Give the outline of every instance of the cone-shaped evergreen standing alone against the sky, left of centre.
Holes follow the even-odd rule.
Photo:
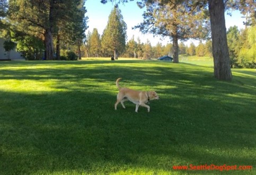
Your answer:
[[[115,6],[109,15],[108,24],[103,31],[102,47],[114,54],[114,59],[118,59],[118,54],[125,50],[127,25],[123,21],[121,11]]]

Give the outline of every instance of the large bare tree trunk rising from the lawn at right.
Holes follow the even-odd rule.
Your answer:
[[[227,47],[224,2],[223,0],[208,0],[208,5],[214,57],[214,76],[219,80],[231,80],[232,72]]]

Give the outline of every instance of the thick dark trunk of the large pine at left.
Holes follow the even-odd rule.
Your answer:
[[[50,29],[45,31],[45,59],[53,60],[54,58],[54,45],[52,43],[52,34]]]

